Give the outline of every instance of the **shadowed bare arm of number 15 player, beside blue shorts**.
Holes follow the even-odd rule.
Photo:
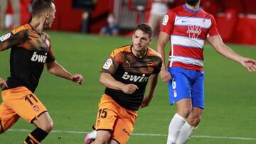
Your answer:
[[[141,108],[149,106],[149,103],[154,96],[154,89],[156,88],[157,80],[158,80],[158,74],[151,74],[151,76],[149,77],[148,94],[146,95],[146,97],[144,97]]]

